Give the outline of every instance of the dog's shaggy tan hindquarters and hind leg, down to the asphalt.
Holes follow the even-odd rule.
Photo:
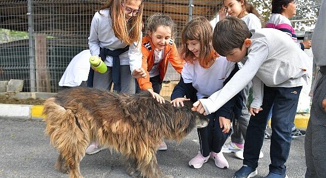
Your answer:
[[[55,106],[55,103],[53,104]],[[50,141],[60,152],[55,167],[58,170],[69,168],[70,178],[81,178],[79,162],[85,155],[86,146],[90,142],[86,127],[83,124],[81,111],[79,118],[71,109],[57,106],[58,109],[47,110],[46,132],[50,135]],[[83,132],[84,130],[84,132]],[[67,164],[67,167],[66,165]]]

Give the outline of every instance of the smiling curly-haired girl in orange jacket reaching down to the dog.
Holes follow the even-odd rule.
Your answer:
[[[147,90],[158,102],[164,103],[159,95],[168,62],[176,72],[181,73],[183,61],[180,60],[177,48],[173,42],[176,25],[168,15],[154,14],[147,18],[146,36],[142,38],[141,52],[142,65],[146,71],[146,78],[138,78],[141,90]],[[164,141],[158,150],[167,150]]]

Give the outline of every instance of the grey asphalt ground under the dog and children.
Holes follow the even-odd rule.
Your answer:
[[[44,135],[45,123],[21,119],[0,118],[0,177],[68,177],[53,168],[57,152],[49,145]],[[229,141],[229,140],[228,140]],[[188,161],[199,149],[197,132],[194,130],[181,143],[167,141],[168,150],[158,151],[157,158],[162,171],[174,177],[232,177],[242,166],[242,160],[233,154],[224,154],[229,169],[219,169],[210,160],[200,169],[192,169]],[[269,141],[264,141],[264,158],[259,160],[258,176],[268,174],[270,164]],[[304,137],[292,141],[291,152],[286,163],[289,177],[304,177]],[[84,177],[130,177],[117,153],[104,150],[96,155],[86,155],[81,161]]]

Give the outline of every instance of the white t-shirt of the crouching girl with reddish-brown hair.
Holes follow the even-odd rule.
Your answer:
[[[210,97],[223,87],[223,82],[234,69],[234,62],[229,62],[226,57],[217,57],[214,64],[202,68],[198,61],[194,64],[186,63],[181,72],[185,83],[191,83],[197,90],[197,98]]]

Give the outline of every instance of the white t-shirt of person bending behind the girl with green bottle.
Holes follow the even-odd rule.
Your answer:
[[[86,81],[90,72],[91,56],[89,49],[75,55],[62,75],[59,86],[79,86],[82,81]]]

